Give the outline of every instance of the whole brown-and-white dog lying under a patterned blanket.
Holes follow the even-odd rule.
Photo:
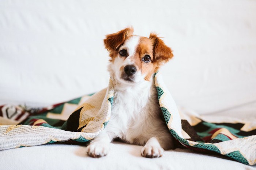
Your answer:
[[[111,118],[102,132],[87,146],[90,157],[108,154],[115,138],[143,146],[141,155],[158,158],[174,149],[174,140],[163,119],[153,74],[173,53],[156,33],[149,38],[133,35],[133,28],[106,35],[108,71],[114,85]]]

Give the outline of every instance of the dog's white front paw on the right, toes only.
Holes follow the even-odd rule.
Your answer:
[[[141,155],[146,158],[159,158],[163,155],[163,149],[157,146],[145,145],[141,150]]]

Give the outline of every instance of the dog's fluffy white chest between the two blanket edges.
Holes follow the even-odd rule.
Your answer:
[[[159,111],[156,95],[156,91],[150,88],[148,91],[131,89],[114,92],[110,126],[118,137],[134,143],[146,134],[149,126],[159,121],[156,115]]]

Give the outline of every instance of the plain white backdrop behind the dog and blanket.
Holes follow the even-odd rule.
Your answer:
[[[102,40],[128,25],[172,47],[162,74],[179,105],[204,114],[251,102],[256,114],[253,0],[1,0],[0,104],[45,106],[106,87]]]

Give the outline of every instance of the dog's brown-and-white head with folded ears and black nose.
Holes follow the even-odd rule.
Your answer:
[[[110,56],[110,76],[128,84],[150,81],[159,67],[173,57],[172,50],[155,33],[150,33],[149,38],[132,33],[133,28],[125,28],[104,39]]]

